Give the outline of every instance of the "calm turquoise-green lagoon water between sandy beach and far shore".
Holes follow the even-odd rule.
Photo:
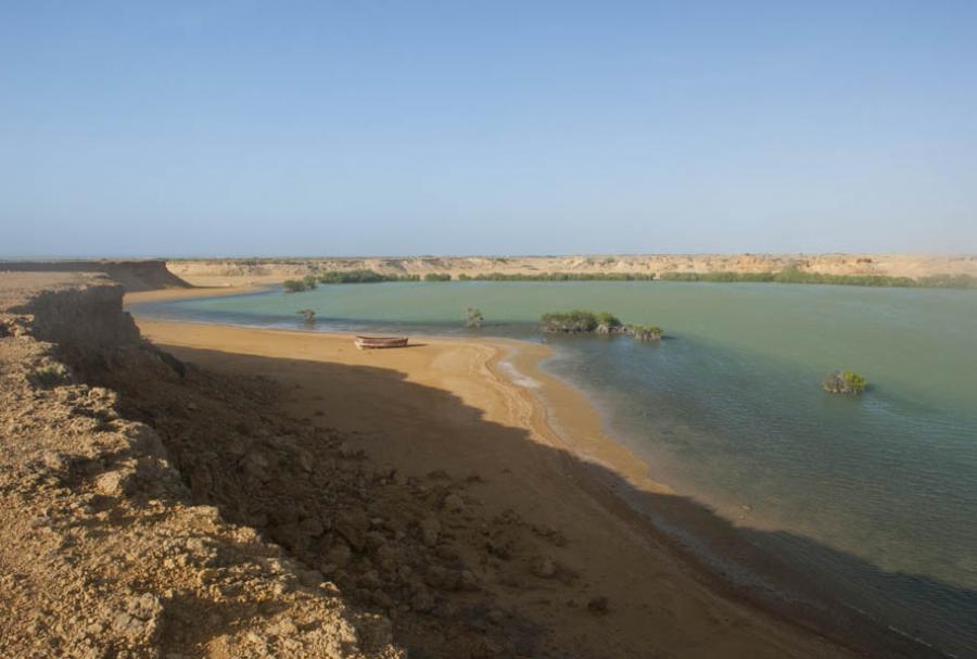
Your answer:
[[[609,311],[669,340],[550,338],[656,480],[743,525],[855,606],[977,656],[977,292],[668,282],[320,287],[144,304],[170,318],[537,340],[546,311]],[[821,391],[865,373],[861,397]]]

